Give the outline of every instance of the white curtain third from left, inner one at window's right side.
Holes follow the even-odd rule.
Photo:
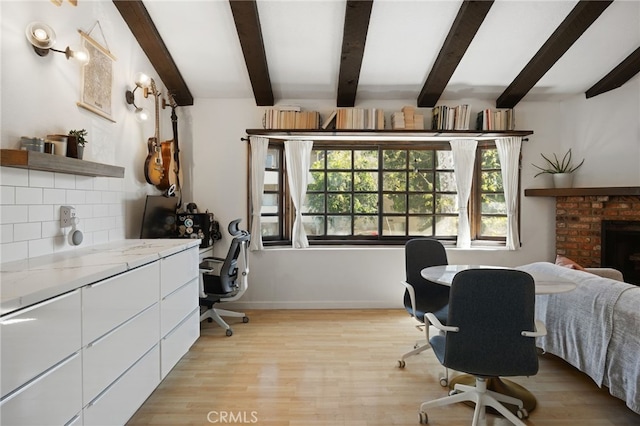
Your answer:
[[[469,226],[469,196],[473,182],[473,166],[476,160],[478,141],[454,139],[449,141],[453,154],[453,171],[458,187],[458,243],[459,248],[471,247],[471,228]]]

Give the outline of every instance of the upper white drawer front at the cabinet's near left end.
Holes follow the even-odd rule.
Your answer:
[[[80,349],[80,313],[74,290],[0,319],[2,396]]]

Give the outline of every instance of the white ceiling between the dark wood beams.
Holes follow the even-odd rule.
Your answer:
[[[356,104],[417,98],[461,3],[375,0]],[[441,99],[495,101],[576,3],[497,0]],[[144,5],[194,98],[253,97],[227,0]],[[335,99],[345,1],[257,5],[276,104]],[[523,100],[584,93],[639,46],[640,0],[616,0]]]

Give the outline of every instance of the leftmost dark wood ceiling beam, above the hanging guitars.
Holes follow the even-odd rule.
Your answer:
[[[193,95],[142,1],[113,0],[113,4],[176,103],[180,106],[193,105]]]

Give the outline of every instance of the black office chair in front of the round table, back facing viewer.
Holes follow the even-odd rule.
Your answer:
[[[513,424],[528,417],[523,402],[487,390],[487,380],[499,376],[531,376],[538,372],[535,337],[547,332],[534,320],[535,285],[531,275],[510,269],[469,269],[451,283],[447,325],[432,313],[428,322],[445,332],[430,339],[438,361],[447,368],[475,376],[475,386],[456,384],[450,396],[420,405],[420,423],[429,422],[433,407],[471,401],[473,426],[492,407]],[[491,386],[490,386],[491,387]],[[496,389],[499,388],[496,386]],[[516,415],[502,403],[516,406]]]

